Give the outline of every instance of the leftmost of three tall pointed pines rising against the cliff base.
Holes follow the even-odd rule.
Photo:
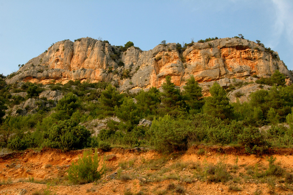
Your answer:
[[[162,84],[163,92],[161,93],[161,115],[169,114],[178,116],[184,108],[186,103],[183,96],[180,94],[180,89],[175,87],[171,82],[171,77],[166,77],[166,82]]]

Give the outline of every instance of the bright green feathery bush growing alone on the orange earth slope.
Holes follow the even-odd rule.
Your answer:
[[[104,167],[98,169],[100,158],[98,152],[95,151],[93,157],[92,151],[85,151],[83,157],[78,159],[76,163],[72,162],[68,169],[68,179],[74,184],[86,184],[97,181],[104,173]]]

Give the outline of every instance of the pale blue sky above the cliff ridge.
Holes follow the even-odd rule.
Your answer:
[[[260,40],[293,69],[291,0],[0,0],[0,73],[18,70],[64,39],[101,37],[150,50],[162,40],[182,44],[238,34]]]

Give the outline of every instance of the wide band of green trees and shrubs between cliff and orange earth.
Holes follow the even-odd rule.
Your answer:
[[[292,146],[293,86],[285,85],[285,76],[278,70],[270,78],[258,78],[256,83],[271,87],[251,93],[249,101],[241,104],[230,103],[227,96],[227,91],[237,85],[224,89],[214,82],[210,96],[203,97],[192,76],[183,90],[167,76],[161,90],[153,87],[130,94],[120,93],[105,82],[6,84],[5,76],[1,75],[0,147],[109,150],[122,146],[172,152],[204,143],[241,146],[247,153],[261,154],[270,147]],[[44,90],[61,91],[64,96],[59,101],[39,98]],[[11,95],[20,92],[27,94]],[[22,114],[22,109],[18,109],[12,116],[11,108],[29,98],[35,99],[35,111]],[[107,128],[101,129],[97,136],[91,136],[93,132],[82,125],[110,117],[117,117],[120,122],[109,119]],[[152,121],[151,125],[138,126],[142,119]],[[284,122],[289,127],[279,125]],[[265,125],[271,127],[265,131],[259,129]]]

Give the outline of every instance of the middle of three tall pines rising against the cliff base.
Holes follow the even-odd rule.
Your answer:
[[[202,98],[202,89],[195,81],[193,75],[187,80],[186,85],[183,87],[184,99],[190,107],[190,113],[199,113],[205,100]]]

